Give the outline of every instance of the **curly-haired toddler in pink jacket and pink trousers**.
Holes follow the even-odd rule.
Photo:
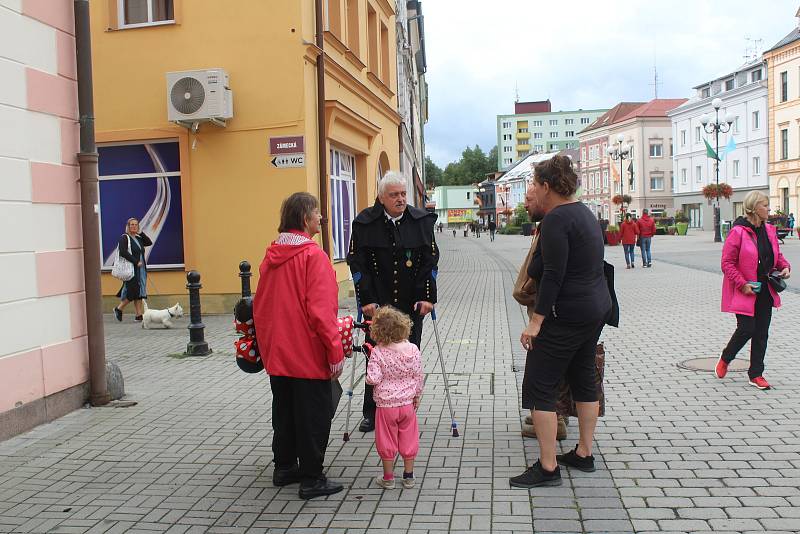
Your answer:
[[[414,458],[419,452],[417,407],[422,395],[422,359],[408,341],[411,319],[391,306],[381,306],[370,326],[377,347],[367,364],[367,384],[375,386],[375,445],[383,461],[384,489],[394,488],[394,460],[403,458],[403,487],[414,487]]]

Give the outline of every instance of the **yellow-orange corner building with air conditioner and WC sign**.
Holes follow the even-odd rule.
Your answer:
[[[317,2],[325,10],[322,180]],[[185,302],[185,273],[197,270],[204,312],[228,312],[240,291],[241,260],[253,265],[255,288],[264,250],[277,236],[282,200],[296,191],[320,198],[322,182],[327,248],[340,287],[349,290],[344,254],[350,221],[374,202],[378,177],[399,165],[394,5],[388,0],[225,5],[91,3],[104,257],[124,230],[121,221],[146,217],[146,227],[161,232],[148,259],[151,306]],[[208,69],[228,75],[232,117],[224,126],[171,122],[167,73]],[[302,150],[302,163],[277,157],[277,138],[286,136],[300,138],[296,150]],[[104,274],[109,309],[119,286]]]

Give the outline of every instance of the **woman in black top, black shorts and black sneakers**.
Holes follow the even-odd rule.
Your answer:
[[[592,440],[599,410],[595,349],[611,311],[603,268],[603,235],[592,212],[575,199],[578,177],[567,156],[534,169],[532,185],[545,212],[528,274],[539,281],[535,313],[520,341],[528,350],[522,406],[531,410],[540,458],[510,479],[514,487],[561,484],[558,464],[594,471]],[[556,457],[558,384],[565,378],[578,411],[580,440]]]

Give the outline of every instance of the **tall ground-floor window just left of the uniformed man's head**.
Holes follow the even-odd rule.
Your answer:
[[[330,169],[333,259],[343,260],[347,256],[350,231],[356,215],[356,159],[352,154],[332,148]]]

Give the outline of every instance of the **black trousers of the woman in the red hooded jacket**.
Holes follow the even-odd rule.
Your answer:
[[[270,376],[275,469],[300,463],[303,482],[322,476],[331,433],[330,380]]]

